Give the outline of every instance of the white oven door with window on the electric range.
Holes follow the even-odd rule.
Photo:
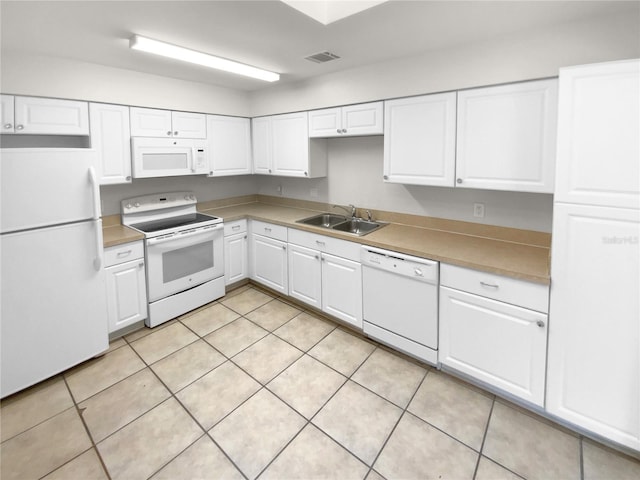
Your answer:
[[[147,240],[149,301],[224,275],[222,223]]]

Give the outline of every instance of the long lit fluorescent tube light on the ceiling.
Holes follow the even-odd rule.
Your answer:
[[[246,77],[257,78],[267,82],[276,82],[280,80],[280,74],[262,70],[260,68],[245,65],[244,63],[234,62],[226,58],[216,57],[208,53],[196,52],[184,47],[171,45],[170,43],[159,42],[150,38],[134,35],[129,41],[129,48],[133,50],[141,50],[143,52],[155,53],[163,57],[175,58],[183,62],[195,63],[225,72],[237,73]]]

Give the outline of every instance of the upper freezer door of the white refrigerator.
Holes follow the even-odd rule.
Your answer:
[[[95,152],[88,149],[2,149],[0,231],[99,217],[99,187],[89,173],[94,165]]]

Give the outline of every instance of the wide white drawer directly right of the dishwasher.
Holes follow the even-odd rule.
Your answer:
[[[440,285],[538,312],[549,311],[549,287],[515,278],[442,264]]]

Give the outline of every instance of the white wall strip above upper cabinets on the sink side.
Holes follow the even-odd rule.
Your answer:
[[[267,115],[553,77],[562,66],[640,57],[639,39],[634,15],[552,25],[269,87],[251,93],[251,111]]]

